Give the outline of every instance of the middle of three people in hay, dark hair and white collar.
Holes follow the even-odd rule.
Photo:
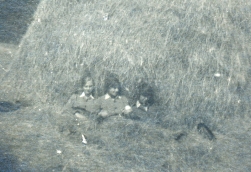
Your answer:
[[[106,78],[105,95],[97,100],[100,112],[98,118],[105,118],[114,115],[129,114],[131,107],[125,96],[120,95],[121,86],[117,78]]]

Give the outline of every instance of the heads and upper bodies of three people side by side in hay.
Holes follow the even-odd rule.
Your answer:
[[[110,116],[120,115],[126,118],[140,119],[140,113],[149,112],[153,103],[153,89],[146,82],[140,81],[137,84],[137,91],[134,93],[134,103],[129,103],[128,98],[121,94],[121,84],[117,77],[108,76],[105,79],[105,94],[96,98],[94,96],[95,83],[90,75],[82,79],[81,94],[73,94],[67,102],[66,108],[71,109],[70,113],[82,118],[84,113],[91,113],[97,119],[105,119]],[[84,112],[84,113],[83,113]]]

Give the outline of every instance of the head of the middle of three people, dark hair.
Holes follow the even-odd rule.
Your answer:
[[[112,98],[117,97],[120,94],[121,86],[120,82],[115,77],[107,77],[105,81],[105,92]]]

